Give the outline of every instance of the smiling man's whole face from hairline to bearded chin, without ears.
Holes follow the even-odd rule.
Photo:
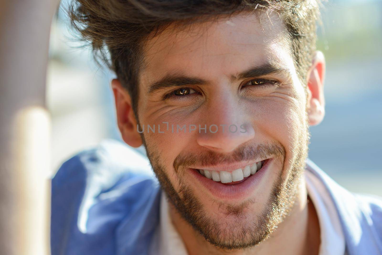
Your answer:
[[[183,218],[221,248],[269,236],[295,201],[306,158],[304,86],[285,27],[271,20],[168,27],[144,51],[138,118],[152,167]]]

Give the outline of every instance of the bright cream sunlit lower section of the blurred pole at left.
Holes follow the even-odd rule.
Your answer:
[[[15,187],[17,254],[49,254],[50,116],[27,107],[15,118]]]

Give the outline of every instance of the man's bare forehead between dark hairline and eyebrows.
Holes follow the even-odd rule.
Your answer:
[[[149,40],[143,53],[143,87],[174,73],[218,82],[264,63],[294,69],[285,26],[275,14],[259,19],[240,13],[181,30],[170,26]]]

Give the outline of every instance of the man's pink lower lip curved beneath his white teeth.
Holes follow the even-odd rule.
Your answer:
[[[212,196],[223,200],[245,199],[253,195],[253,192],[260,185],[272,159],[267,159],[262,168],[255,174],[249,176],[243,182],[234,185],[222,184],[202,176],[198,170],[189,168],[189,172],[199,181]]]

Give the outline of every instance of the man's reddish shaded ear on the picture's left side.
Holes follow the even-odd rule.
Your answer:
[[[137,131],[137,121],[131,104],[131,97],[118,79],[112,80],[112,89],[115,109],[117,110],[117,123],[122,139],[132,147],[139,147],[142,145],[142,139]]]

